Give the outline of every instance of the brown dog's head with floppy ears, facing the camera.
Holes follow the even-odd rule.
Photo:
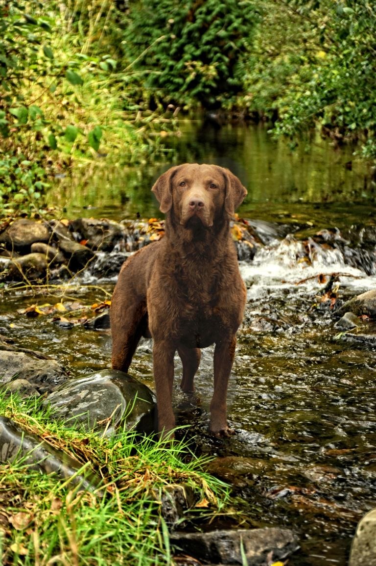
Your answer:
[[[232,216],[247,194],[229,169],[217,165],[184,164],[168,169],[151,189],[160,211],[174,212],[181,225],[211,227],[218,215]]]

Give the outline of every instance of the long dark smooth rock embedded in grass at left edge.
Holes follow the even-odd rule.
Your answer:
[[[47,474],[54,472],[62,479],[72,478],[72,484],[86,490],[96,490],[101,482],[101,478],[93,472],[85,470],[83,475],[79,471],[82,464],[65,452],[56,450],[38,436],[23,430],[11,419],[0,417],[0,461],[8,464],[21,458],[23,464],[30,468]]]

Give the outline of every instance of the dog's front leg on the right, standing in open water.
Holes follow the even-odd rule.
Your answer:
[[[214,393],[210,404],[210,430],[215,434],[231,434],[226,419],[227,386],[231,367],[233,366],[235,336],[216,342],[214,350]]]

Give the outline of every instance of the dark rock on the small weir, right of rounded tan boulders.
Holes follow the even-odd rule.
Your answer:
[[[77,218],[71,222],[71,228],[80,240],[87,240],[86,245],[93,250],[111,251],[116,242],[124,238],[123,226],[110,220]]]

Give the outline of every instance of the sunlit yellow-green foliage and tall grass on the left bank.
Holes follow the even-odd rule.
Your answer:
[[[0,5],[0,211],[40,208],[77,160],[163,151],[159,117],[138,115],[117,72],[117,15],[113,0]]]

